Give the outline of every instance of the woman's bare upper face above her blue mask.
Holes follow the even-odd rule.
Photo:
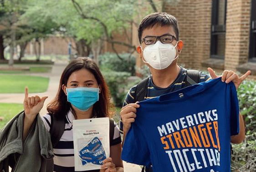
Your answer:
[[[66,88],[77,88],[77,87],[92,87],[98,88],[94,75],[87,69],[80,69],[79,71],[74,71],[67,80],[67,87],[62,85],[62,90],[66,93]]]

